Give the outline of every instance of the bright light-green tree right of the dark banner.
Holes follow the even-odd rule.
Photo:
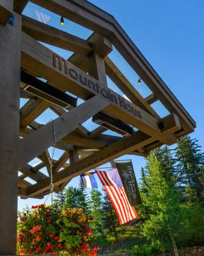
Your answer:
[[[143,234],[159,249],[173,247],[175,255],[178,255],[175,241],[179,237],[180,195],[172,175],[170,151],[165,147],[153,150],[147,158],[147,169],[149,174],[144,187],[148,193],[143,194],[143,205],[148,207],[149,216],[144,223]]]

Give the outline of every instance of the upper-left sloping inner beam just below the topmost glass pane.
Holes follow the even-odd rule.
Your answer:
[[[91,42],[24,15],[22,15],[22,31],[40,42],[77,52],[84,56],[92,51]]]

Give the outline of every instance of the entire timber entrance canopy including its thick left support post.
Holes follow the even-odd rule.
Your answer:
[[[64,151],[54,159],[57,192],[81,173],[124,154],[147,156],[152,148],[171,145],[196,127],[112,15],[85,0],[31,2],[94,33],[83,40],[22,15],[26,0],[0,0],[0,255],[15,254],[17,195],[43,198],[50,193],[48,148],[54,143]],[[40,42],[75,53],[64,60]],[[108,58],[112,46],[149,86],[149,97],[143,98]],[[131,102],[108,88],[106,76]],[[65,92],[84,103],[77,106],[76,98]],[[20,98],[29,99],[21,109]],[[156,100],[170,115],[160,118],[151,106]],[[48,108],[59,117],[46,125],[35,122]],[[87,131],[82,124],[92,116],[101,125]],[[112,128],[124,136],[103,134]],[[33,167],[28,163],[35,157],[41,163]],[[45,167],[47,175],[41,172]]]

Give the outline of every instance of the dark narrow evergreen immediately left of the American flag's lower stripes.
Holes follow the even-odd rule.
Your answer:
[[[115,241],[118,244],[117,227],[119,227],[119,220],[106,193],[103,196],[102,214],[103,228],[108,234],[113,234],[113,236],[115,236]]]

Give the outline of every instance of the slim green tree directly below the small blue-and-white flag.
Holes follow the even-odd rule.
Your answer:
[[[91,229],[96,233],[103,232],[102,225],[102,194],[96,189],[91,190],[91,196],[89,198],[90,214],[93,218],[91,221]]]

